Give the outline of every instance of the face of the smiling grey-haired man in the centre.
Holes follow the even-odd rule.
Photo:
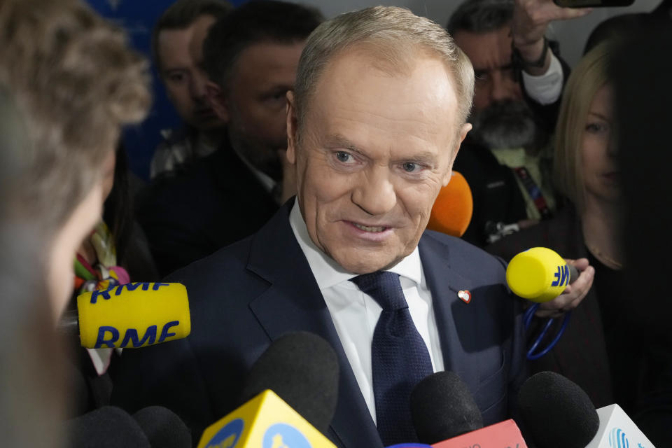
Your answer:
[[[307,105],[300,140],[288,95],[288,160],[312,241],[349,272],[395,265],[417,246],[461,140],[444,65],[419,55],[407,74],[362,51],[336,57]]]

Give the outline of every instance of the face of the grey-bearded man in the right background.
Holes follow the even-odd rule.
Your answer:
[[[460,30],[454,38],[476,75],[474,136],[492,149],[533,144],[538,129],[511,64],[509,27],[482,34]]]

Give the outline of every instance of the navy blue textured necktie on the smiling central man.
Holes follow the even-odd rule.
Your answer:
[[[386,446],[417,442],[411,391],[433,369],[427,346],[413,324],[399,274],[372,272],[351,281],[383,309],[371,346],[378,433]]]

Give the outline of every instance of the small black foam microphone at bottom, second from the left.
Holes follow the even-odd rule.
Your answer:
[[[133,414],[152,448],[191,448],[191,432],[167,407],[149,406]]]

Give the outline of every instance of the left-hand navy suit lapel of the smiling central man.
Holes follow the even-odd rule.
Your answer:
[[[313,332],[337,353],[339,393],[331,430],[343,447],[382,447],[377,428],[345,355],[331,315],[289,224],[293,201],[282,207],[254,237],[247,268],[269,282],[250,304],[269,339],[286,332]],[[274,248],[274,256],[269,256]]]

